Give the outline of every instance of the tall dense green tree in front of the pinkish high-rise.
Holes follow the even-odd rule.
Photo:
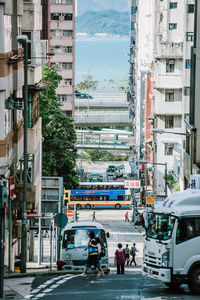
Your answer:
[[[63,177],[65,187],[73,188],[78,184],[75,171],[76,161],[76,132],[72,119],[61,110],[57,100],[56,88],[62,77],[55,67],[44,66],[43,80],[50,84],[40,94],[40,114],[42,117],[42,171],[43,176]]]

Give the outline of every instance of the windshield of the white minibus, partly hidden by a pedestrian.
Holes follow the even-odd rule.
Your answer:
[[[63,248],[74,249],[84,248],[88,245],[88,232],[91,229],[75,229],[66,230],[63,234]],[[95,237],[99,237],[104,247],[106,247],[105,232],[102,229],[92,229],[95,233]]]

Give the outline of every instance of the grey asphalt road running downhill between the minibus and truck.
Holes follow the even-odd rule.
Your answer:
[[[125,211],[98,210],[97,221],[110,232],[109,275],[97,277],[89,274],[62,274],[60,276],[37,276],[32,282],[32,289],[25,299],[200,299],[191,295],[186,285],[176,291],[170,290],[163,283],[144,278],[141,274],[143,235],[130,223],[124,222]],[[91,220],[92,211],[79,211],[80,220]],[[130,214],[130,213],[129,213]],[[114,251],[118,242],[123,246],[136,242],[139,252],[136,256],[138,266],[126,266],[124,275],[116,274],[113,264]]]

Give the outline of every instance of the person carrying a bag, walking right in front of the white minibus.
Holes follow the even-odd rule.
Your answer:
[[[95,268],[98,268],[100,273],[103,273],[102,268],[99,265],[99,253],[98,253],[98,245],[97,241],[95,239],[94,231],[88,232],[89,242],[88,242],[88,259],[85,264],[85,269],[83,271],[83,276],[86,276],[88,268],[91,268],[91,266],[94,266]]]

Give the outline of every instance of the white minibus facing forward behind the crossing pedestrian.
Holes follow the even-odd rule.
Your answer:
[[[99,237],[105,248],[105,256],[101,258],[101,266],[105,273],[108,268],[108,246],[106,233],[103,226],[97,222],[74,222],[65,226],[62,232],[62,259],[66,262],[66,270],[83,271],[88,258],[88,232],[94,231],[95,237]],[[107,236],[109,234],[107,233]]]

